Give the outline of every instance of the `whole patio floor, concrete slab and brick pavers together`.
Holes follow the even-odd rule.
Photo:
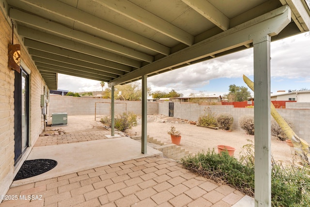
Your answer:
[[[254,206],[240,191],[194,175],[151,147],[144,155],[141,143],[129,137],[107,139],[110,131],[100,130],[93,116],[68,120],[62,126],[68,133],[39,137],[27,158],[55,159],[58,165],[14,181],[7,197],[17,199],[0,207]]]

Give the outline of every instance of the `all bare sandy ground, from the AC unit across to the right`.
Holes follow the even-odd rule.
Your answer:
[[[140,121],[139,119],[138,122],[140,123]],[[48,120],[48,124],[50,123],[51,118]],[[147,134],[161,142],[171,143],[170,135],[167,134],[171,125],[174,125],[177,130],[181,131],[182,139],[180,146],[191,153],[206,151],[208,148],[215,148],[217,151],[217,145],[223,144],[234,147],[236,149],[234,156],[239,157],[240,152],[242,152],[242,146],[248,144],[248,140],[254,143],[254,136],[249,136],[244,131],[233,130],[231,132],[225,132],[220,129],[215,130],[197,127],[196,125],[191,125],[184,121],[182,123],[181,120],[163,115],[148,116]],[[103,127],[103,124],[99,122],[99,119],[95,121],[92,115],[68,116],[68,125],[47,128],[62,128],[66,133],[70,134],[107,130]],[[129,136],[140,136],[141,125],[139,124],[127,130],[127,134]],[[271,137],[271,151],[276,160],[285,162],[293,160],[294,155],[290,147],[285,142],[279,141],[275,137]]]

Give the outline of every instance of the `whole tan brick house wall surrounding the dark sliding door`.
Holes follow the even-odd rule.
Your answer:
[[[2,5],[0,5],[2,6]],[[31,146],[23,153],[14,166],[14,81],[15,73],[8,68],[8,44],[11,43],[12,29],[0,7],[0,195],[5,195],[21,164],[31,151]],[[16,33],[15,33],[16,34]],[[33,145],[43,129],[40,95],[43,94],[44,81],[31,62],[22,43],[14,35],[14,44],[21,44],[21,60],[25,70],[30,73],[30,141]],[[1,202],[2,200],[0,200]]]

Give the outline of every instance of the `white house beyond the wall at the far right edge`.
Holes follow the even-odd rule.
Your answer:
[[[310,91],[278,91],[276,94],[271,94],[272,101],[296,101],[310,102]]]

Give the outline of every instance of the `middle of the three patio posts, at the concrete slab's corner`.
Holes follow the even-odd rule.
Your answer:
[[[141,153],[147,154],[147,76],[142,76],[142,134]]]

